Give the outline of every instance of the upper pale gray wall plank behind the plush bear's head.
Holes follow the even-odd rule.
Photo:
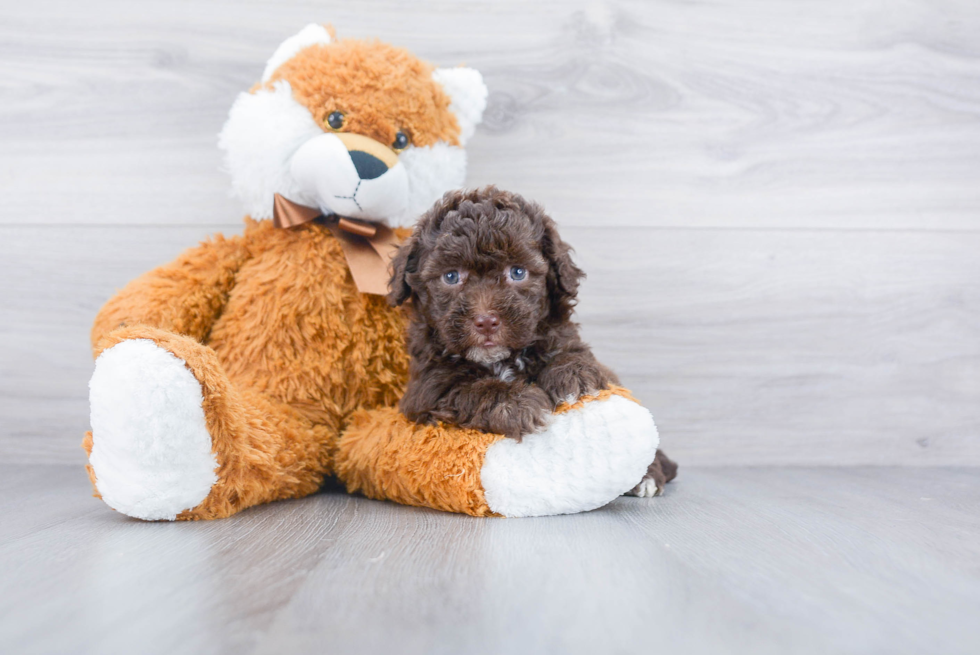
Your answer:
[[[0,222],[237,224],[215,135],[315,20],[481,69],[469,183],[569,225],[980,227],[980,7],[952,0],[7,3]]]

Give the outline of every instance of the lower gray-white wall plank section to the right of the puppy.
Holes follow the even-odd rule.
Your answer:
[[[668,452],[980,463],[980,235],[566,232],[585,336]]]

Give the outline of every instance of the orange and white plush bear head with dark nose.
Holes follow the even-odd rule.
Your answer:
[[[462,186],[463,146],[486,98],[476,70],[309,25],[239,95],[219,145],[253,218],[272,217],[280,194],[328,215],[409,225]]]

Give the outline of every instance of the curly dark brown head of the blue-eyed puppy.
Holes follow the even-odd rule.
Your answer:
[[[398,251],[388,299],[411,299],[446,352],[489,364],[569,319],[584,275],[570,252],[537,204],[492,186],[450,191]]]

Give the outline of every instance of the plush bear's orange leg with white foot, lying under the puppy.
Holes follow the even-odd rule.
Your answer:
[[[420,425],[391,407],[356,413],[333,453],[350,492],[473,516],[583,512],[643,478],[659,436],[622,387],[563,403],[521,440]]]

